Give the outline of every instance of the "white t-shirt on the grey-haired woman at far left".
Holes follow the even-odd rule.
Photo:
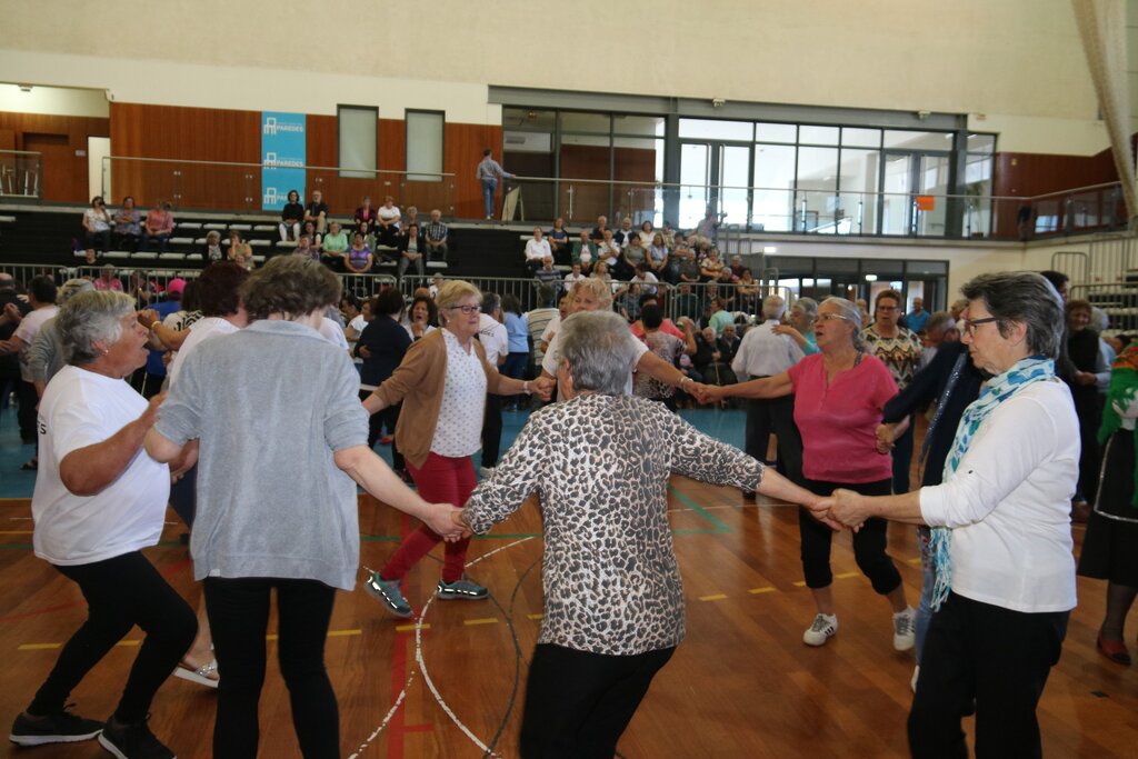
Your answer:
[[[100,493],[64,487],[59,462],[102,443],[142,415],[147,401],[123,380],[64,366],[40,401],[40,470],[32,494],[35,555],[53,564],[89,564],[155,545],[170,500],[170,468],[139,451]]]

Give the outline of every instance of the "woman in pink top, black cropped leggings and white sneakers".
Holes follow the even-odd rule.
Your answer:
[[[794,423],[802,435],[802,482],[823,495],[839,487],[865,495],[890,495],[892,462],[879,452],[881,410],[897,395],[885,365],[865,352],[861,315],[843,298],[827,298],[818,306],[814,333],[820,353],[807,356],[789,371],[740,385],[707,388],[707,399],[727,396],[777,398],[794,394]],[[704,398],[701,398],[706,402]],[[799,512],[802,569],[818,613],[802,635],[807,645],[823,645],[838,632],[830,586],[832,531],[807,512]],[[853,556],[893,609],[893,647],[914,644],[914,612],[905,601],[905,586],[893,560],[885,553],[884,520],[867,520],[853,534]]]

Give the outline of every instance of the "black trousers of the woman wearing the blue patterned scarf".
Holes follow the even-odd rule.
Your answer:
[[[1036,704],[1071,612],[1025,613],[950,593],[932,617],[909,711],[917,759],[968,756],[960,716],[975,699],[978,759],[1039,757]]]

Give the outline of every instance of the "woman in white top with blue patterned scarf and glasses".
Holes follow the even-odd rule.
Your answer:
[[[974,699],[978,757],[1038,757],[1036,704],[1075,605],[1079,419],[1054,361],[1063,305],[1034,273],[984,274],[962,291],[962,340],[991,379],[960,419],[943,482],[887,497],[838,490],[831,514],[933,528],[937,611],[909,712],[913,756],[967,756],[960,715]]]

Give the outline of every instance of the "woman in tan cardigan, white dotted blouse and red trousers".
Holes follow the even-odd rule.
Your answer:
[[[478,340],[483,294],[473,284],[450,280],[438,289],[435,300],[443,329],[415,340],[402,363],[363,405],[374,414],[403,403],[395,444],[419,494],[437,503],[462,506],[475,489],[471,456],[481,447],[486,393],[536,391],[549,399],[553,380],[513,379],[500,374],[486,361]],[[372,574],[364,588],[396,617],[410,617],[411,604],[401,588],[403,578],[442,539],[438,533],[421,525]],[[487,596],[485,587],[463,574],[469,544],[469,538],[446,544],[443,579],[436,592],[440,601]]]

